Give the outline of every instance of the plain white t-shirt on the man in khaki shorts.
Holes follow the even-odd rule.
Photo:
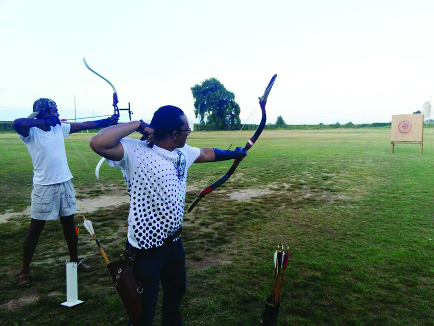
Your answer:
[[[66,160],[65,140],[71,125],[61,124],[43,131],[30,128],[27,137],[19,137],[26,144],[33,163],[33,183],[41,185],[56,184],[73,178]]]

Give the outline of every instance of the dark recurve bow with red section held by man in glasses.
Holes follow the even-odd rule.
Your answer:
[[[261,122],[259,123],[258,127],[256,128],[255,133],[253,134],[253,136],[247,142],[246,146],[243,147],[243,151],[248,151],[253,146],[253,144],[255,144],[255,142],[259,138],[259,136],[260,136],[263,128],[266,125],[266,122],[267,122],[267,113],[266,113],[266,110],[265,110],[265,106],[267,104],[268,95],[270,94],[270,90],[273,87],[273,84],[274,84],[274,81],[276,80],[276,77],[277,77],[277,75],[274,75],[271,78],[270,83],[268,84],[266,90],[264,91],[264,94],[261,97],[259,97],[259,105],[261,107],[261,112],[262,112]],[[229,170],[225,173],[225,175],[223,177],[221,177],[219,180],[215,181],[214,183],[212,183],[211,185],[209,185],[208,187],[206,187],[205,189],[203,189],[199,193],[199,195],[197,195],[196,199],[191,203],[191,205],[188,208],[187,212],[190,213],[192,211],[192,209],[195,208],[195,206],[198,204],[198,202],[203,197],[205,197],[207,194],[209,194],[213,190],[219,188],[223,183],[225,183],[230,178],[230,176],[234,173],[234,171],[238,167],[239,162],[241,160],[242,160],[241,158],[236,158],[233,161],[232,166],[229,168]]]

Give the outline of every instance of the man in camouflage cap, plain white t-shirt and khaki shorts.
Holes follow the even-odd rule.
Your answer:
[[[32,206],[29,231],[23,246],[23,265],[18,277],[18,286],[32,285],[30,263],[38,244],[39,235],[47,220],[60,216],[63,235],[68,245],[71,262],[79,262],[74,213],[77,211],[73,175],[66,160],[64,138],[81,130],[97,129],[116,124],[117,115],[110,118],[83,123],[62,124],[56,103],[51,99],[38,99],[33,104],[33,113],[28,118],[16,119],[13,128],[29,150],[33,164]],[[81,263],[81,271],[90,271],[90,266]]]

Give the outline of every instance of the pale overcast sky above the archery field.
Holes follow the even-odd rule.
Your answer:
[[[111,113],[85,55],[135,120],[172,104],[196,122],[190,87],[215,77],[245,123],[277,74],[270,123],[388,122],[434,94],[433,17],[432,0],[0,0],[0,120],[40,97],[64,119]]]

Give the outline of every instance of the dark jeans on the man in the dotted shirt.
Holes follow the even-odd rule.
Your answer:
[[[185,294],[187,276],[181,239],[164,243],[157,248],[139,249],[134,260],[134,274],[143,287],[143,319],[133,326],[152,326],[160,281],[163,288],[161,324],[182,325],[179,306]]]

